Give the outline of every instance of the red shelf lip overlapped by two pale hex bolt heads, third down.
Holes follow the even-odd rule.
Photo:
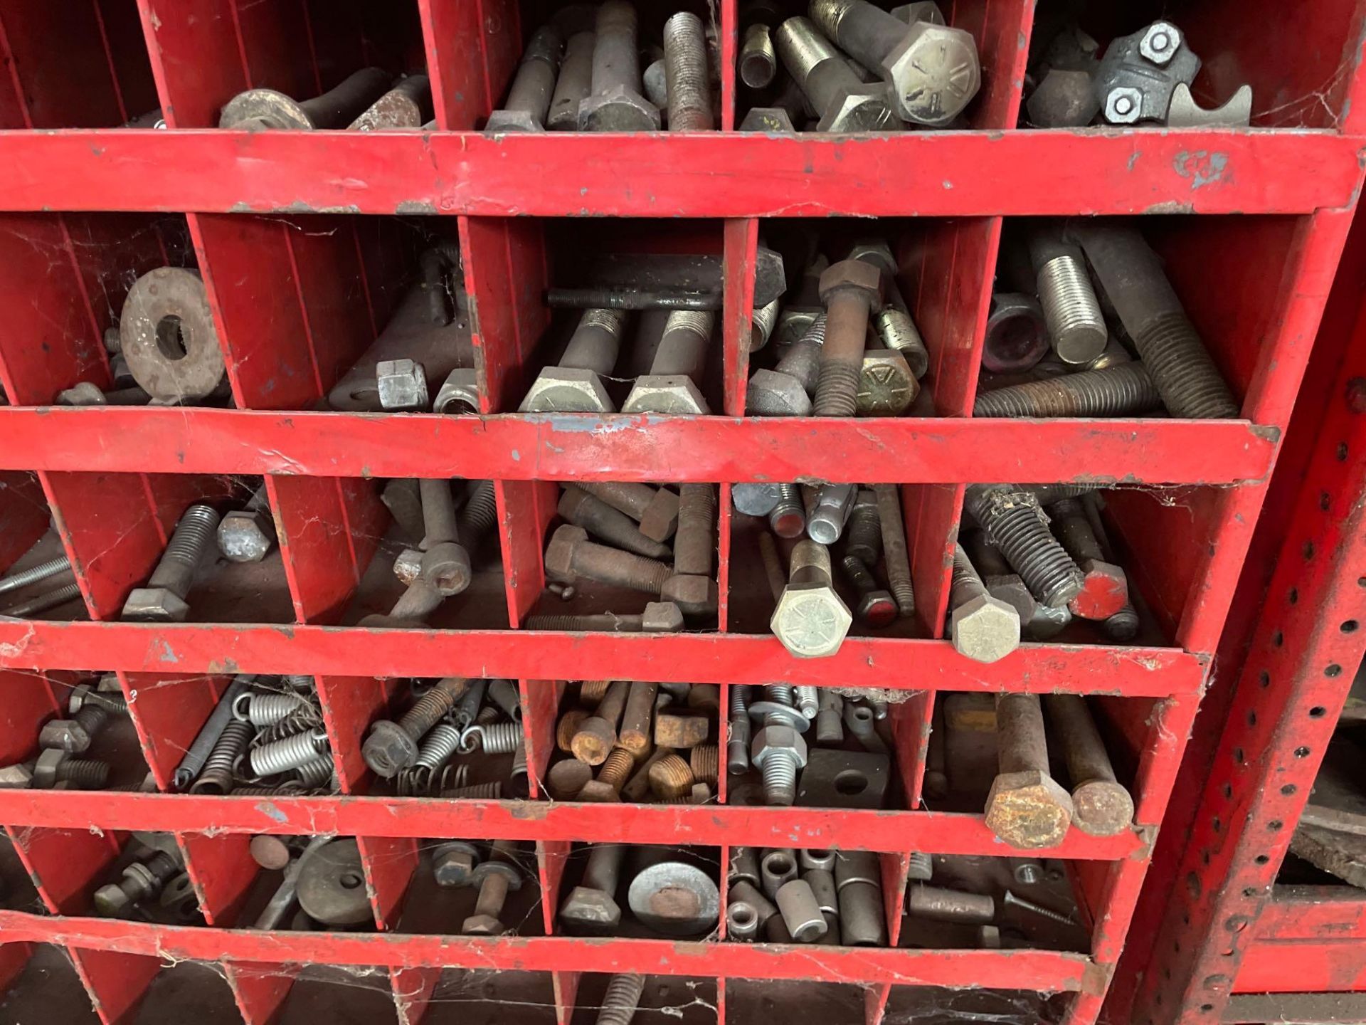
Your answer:
[[[225,657],[224,652],[232,652]],[[0,619],[0,666],[126,672],[306,672],[324,676],[652,679],[810,683],[896,690],[1197,697],[1208,656],[1179,648],[1027,644],[994,663],[948,641],[851,637],[828,659],[795,659],[761,634],[372,630],[266,623]],[[564,674],[570,675],[566,676]],[[576,675],[575,675],[576,674]],[[1101,679],[1104,687],[1076,681]],[[0,820],[3,821],[3,820]]]

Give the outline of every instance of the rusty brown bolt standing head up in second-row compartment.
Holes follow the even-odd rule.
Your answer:
[[[863,372],[869,313],[882,303],[882,275],[862,260],[841,260],[821,275],[825,344],[816,385],[817,417],[852,417]]]

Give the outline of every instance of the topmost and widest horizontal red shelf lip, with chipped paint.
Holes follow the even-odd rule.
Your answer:
[[[1330,130],[0,133],[11,210],[467,216],[1311,213],[1352,202]],[[996,167],[1019,172],[1003,186]],[[161,168],[201,167],[201,175]],[[1314,174],[1291,174],[1313,167]],[[346,168],[339,174],[337,168]],[[668,174],[653,174],[668,168]],[[652,174],[649,189],[631,182]],[[908,200],[907,197],[912,197]]]

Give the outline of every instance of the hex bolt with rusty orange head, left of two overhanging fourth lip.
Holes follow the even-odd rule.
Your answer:
[[[1038,694],[996,698],[1000,772],[986,797],[986,828],[1012,847],[1052,847],[1072,821],[1072,798],[1048,774]]]

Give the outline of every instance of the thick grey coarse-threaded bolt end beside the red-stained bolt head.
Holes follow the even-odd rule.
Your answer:
[[[1082,592],[1083,577],[1053,537],[1038,503],[1011,485],[973,484],[964,504],[1040,601],[1061,608]]]

